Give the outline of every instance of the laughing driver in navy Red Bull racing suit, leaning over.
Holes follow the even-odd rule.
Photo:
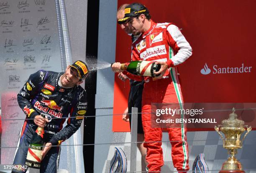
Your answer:
[[[40,173],[57,172],[60,148],[54,145],[60,145],[71,137],[82,123],[87,110],[87,99],[85,90],[79,85],[88,72],[83,61],[76,61],[64,73],[39,70],[30,75],[17,97],[26,120],[20,132],[19,148],[16,149],[13,165],[21,165],[23,168],[13,169],[12,173],[26,172],[24,165],[28,146],[38,126],[44,127],[46,143],[42,160],[38,160],[41,161]],[[69,114],[67,126],[62,128]]]

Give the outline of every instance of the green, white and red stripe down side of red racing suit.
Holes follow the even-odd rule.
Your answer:
[[[173,51],[172,51],[172,48],[169,46],[169,59],[172,58],[173,56]],[[183,109],[184,108],[184,105],[183,105],[183,98],[182,98],[182,92],[181,92],[181,88],[180,88],[180,85],[179,85],[179,80],[178,80],[178,76],[177,76],[177,69],[175,67],[171,67],[170,68],[170,74],[171,74],[171,77],[172,77],[172,81],[173,81],[173,84],[174,84],[174,89],[175,89],[175,92],[176,92],[176,95],[177,95],[177,99],[179,101],[179,107],[180,109]],[[184,114],[182,113],[181,114],[181,118],[184,117]],[[183,166],[182,168],[183,169],[186,169],[187,168],[187,160],[188,160],[188,151],[187,151],[187,147],[186,147],[186,142],[185,141],[185,129],[184,129],[184,123],[181,124],[181,132],[182,132],[182,148],[183,148],[183,154],[184,154],[184,162],[183,162]]]

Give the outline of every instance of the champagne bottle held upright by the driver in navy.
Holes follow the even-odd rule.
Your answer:
[[[44,127],[37,127],[36,132],[31,138],[28,148],[28,154],[25,164],[30,168],[39,169],[41,165],[42,155],[44,150]]]

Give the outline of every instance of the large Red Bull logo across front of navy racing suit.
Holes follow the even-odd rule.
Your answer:
[[[47,107],[42,106],[42,105],[40,104],[40,102],[37,101],[37,102],[34,104],[34,107],[35,107],[36,109],[40,110],[40,111],[45,112],[45,113],[48,112],[48,114],[51,114],[51,115],[53,115],[54,117],[61,118],[63,114],[62,114],[61,112],[55,112],[55,111],[54,111],[54,108],[55,108],[55,110],[61,110],[62,107],[57,106],[56,103],[53,101],[53,102],[55,103],[55,105],[54,105],[52,101],[53,101],[53,100],[42,100],[42,101],[41,101],[41,102],[44,103]],[[54,106],[55,106],[55,107],[54,107]],[[53,108],[53,107],[54,107],[54,108]]]

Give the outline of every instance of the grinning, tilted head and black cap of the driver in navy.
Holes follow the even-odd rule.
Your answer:
[[[61,85],[69,88],[75,85],[82,84],[82,80],[89,74],[88,66],[84,61],[75,61],[72,65],[69,65],[65,73],[61,76]]]

